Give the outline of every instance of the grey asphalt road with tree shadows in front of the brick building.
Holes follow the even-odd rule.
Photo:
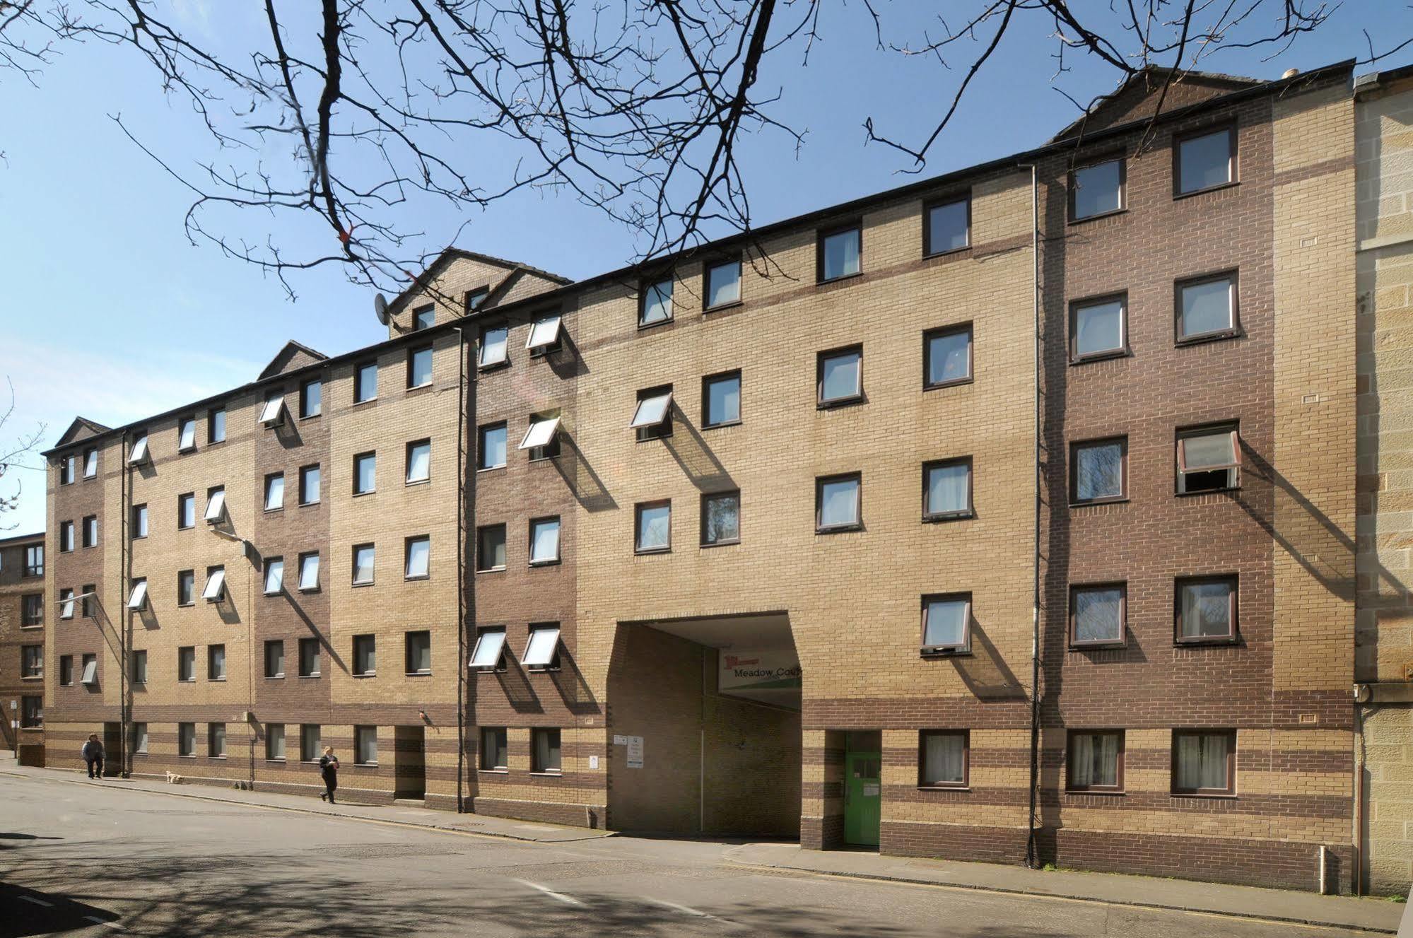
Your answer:
[[[1366,937],[762,873],[722,843],[520,843],[105,784],[0,777],[0,937]]]

